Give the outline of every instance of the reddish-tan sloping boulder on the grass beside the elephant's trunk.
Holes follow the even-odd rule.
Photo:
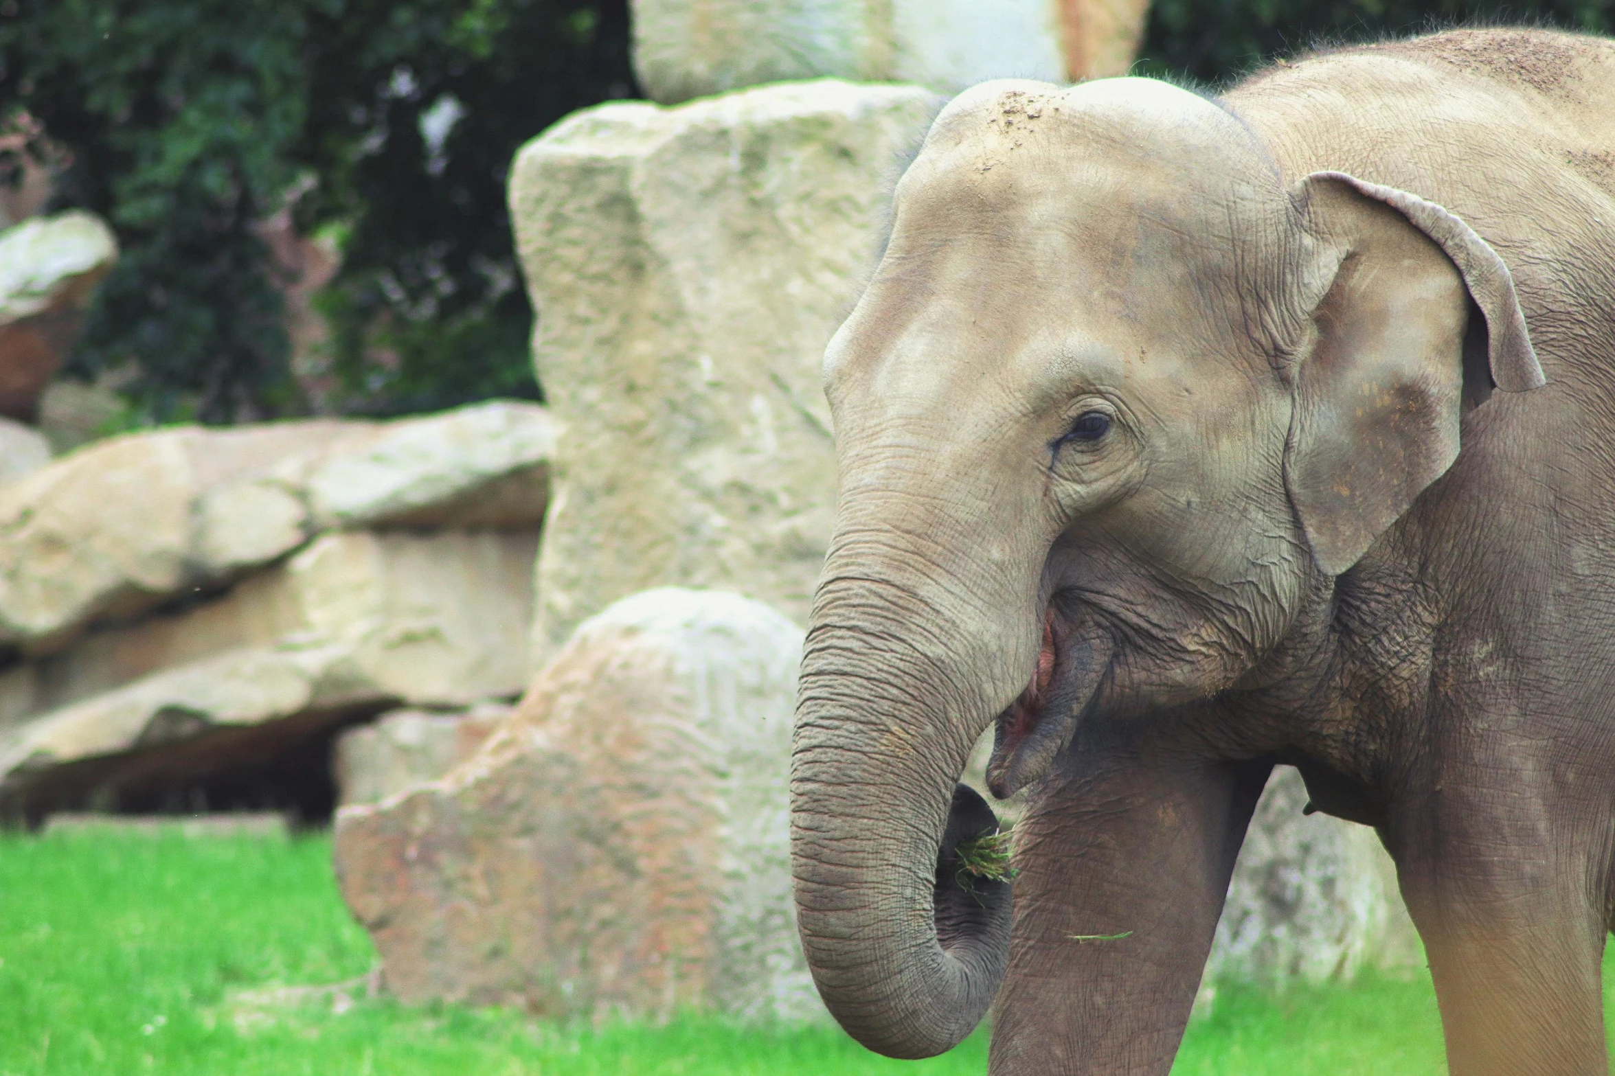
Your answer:
[[[473,760],[338,811],[338,878],[388,989],[593,1020],[817,1018],[788,868],[801,640],[738,595],[633,595],[578,628]]]

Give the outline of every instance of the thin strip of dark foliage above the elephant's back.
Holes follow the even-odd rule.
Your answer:
[[[1500,23],[1607,32],[1615,0],[1155,0],[1140,69],[1223,84],[1310,48]]]

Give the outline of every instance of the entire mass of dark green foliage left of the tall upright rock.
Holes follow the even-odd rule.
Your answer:
[[[341,236],[334,402],[536,395],[510,248],[515,148],[631,90],[625,0],[5,0],[0,110],[40,121],[57,203],[123,247],[74,368],[149,419],[307,407],[262,223]]]

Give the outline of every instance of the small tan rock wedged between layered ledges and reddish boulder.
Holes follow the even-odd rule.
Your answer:
[[[338,802],[380,803],[436,781],[475,755],[512,707],[481,703],[459,713],[392,710],[336,740]]]

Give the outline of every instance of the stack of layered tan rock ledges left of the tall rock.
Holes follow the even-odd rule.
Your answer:
[[[551,444],[528,403],[178,427],[0,487],[0,816],[205,799],[287,752],[328,787],[344,723],[514,697]]]

